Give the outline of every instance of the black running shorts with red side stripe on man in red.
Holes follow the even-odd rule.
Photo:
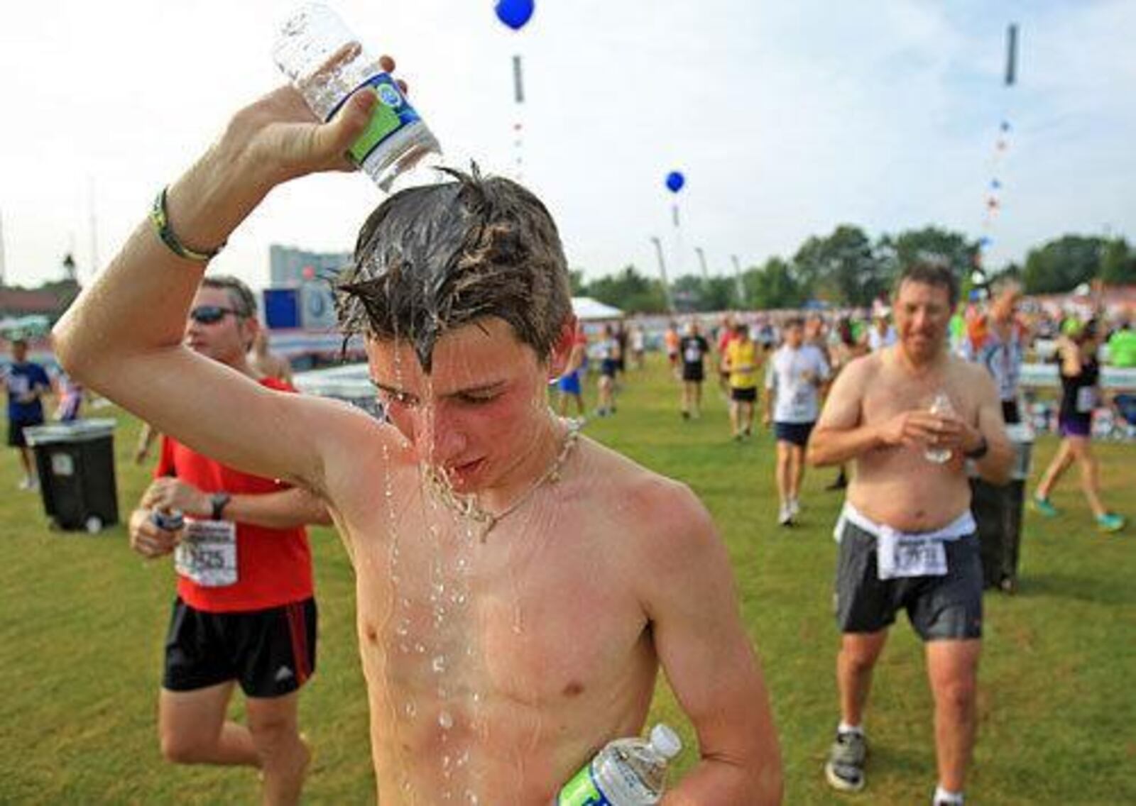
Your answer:
[[[193,691],[236,680],[249,697],[282,697],[316,670],[316,601],[207,613],[175,599],[162,688]]]

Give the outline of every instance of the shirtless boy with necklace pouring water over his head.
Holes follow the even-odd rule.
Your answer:
[[[240,111],[170,186],[167,236],[206,257],[275,185],[350,168],[374,103],[362,91],[318,125],[282,89]],[[161,431],[327,502],[357,577],[382,803],[543,806],[640,732],[660,666],[701,754],[666,801],[777,803],[768,696],[708,513],[548,412],[575,321],[544,207],[506,179],[414,188],[356,257],[345,326],[367,334],[391,423],[186,350],[203,266],[149,220],[57,353]]]

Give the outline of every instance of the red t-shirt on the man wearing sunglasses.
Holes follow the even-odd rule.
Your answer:
[[[275,378],[261,384],[279,392],[294,392]],[[250,476],[202,456],[167,436],[154,478],[173,476],[204,493],[265,494],[287,489],[279,480]],[[203,587],[178,576],[177,595],[191,607],[212,613],[278,607],[311,597],[311,551],[308,532],[295,529],[236,524],[237,580],[224,587]]]

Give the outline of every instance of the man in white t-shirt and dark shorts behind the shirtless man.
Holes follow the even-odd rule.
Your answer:
[[[766,414],[777,436],[777,522],[792,526],[801,511],[804,447],[820,414],[820,388],[829,377],[825,354],[804,343],[804,322],[785,322],[785,343],[774,353],[766,375]]]

